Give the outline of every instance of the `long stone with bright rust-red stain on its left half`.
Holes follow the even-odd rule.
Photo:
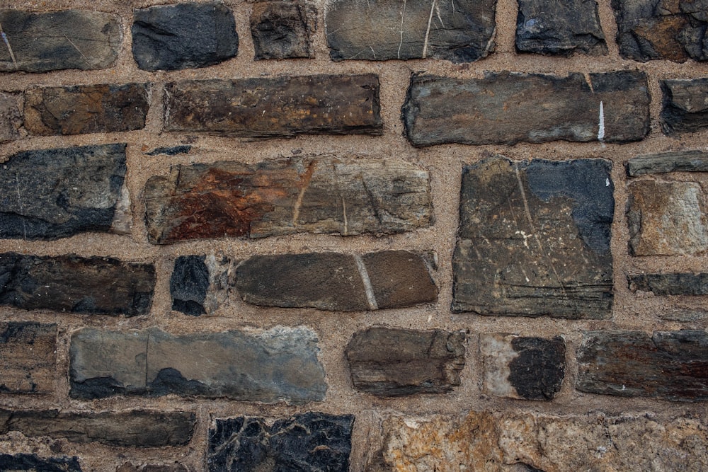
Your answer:
[[[432,222],[430,175],[404,161],[305,156],[173,166],[143,193],[150,242],[298,232],[391,234]]]

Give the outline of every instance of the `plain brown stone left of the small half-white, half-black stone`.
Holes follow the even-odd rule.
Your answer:
[[[460,383],[464,333],[369,328],[346,347],[354,388],[377,396],[446,393]]]

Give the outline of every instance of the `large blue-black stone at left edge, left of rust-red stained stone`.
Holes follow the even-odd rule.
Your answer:
[[[0,166],[0,238],[109,231],[125,179],[125,144],[13,154]]]

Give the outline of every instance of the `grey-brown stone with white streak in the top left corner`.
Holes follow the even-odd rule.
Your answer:
[[[0,72],[105,69],[120,52],[120,20],[108,13],[0,10],[0,24]]]

